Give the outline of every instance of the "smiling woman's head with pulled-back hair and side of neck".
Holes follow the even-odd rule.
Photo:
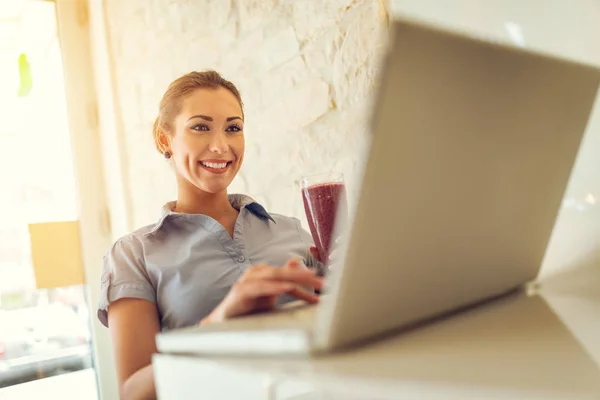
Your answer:
[[[169,86],[159,112],[154,140],[175,166],[177,211],[194,213],[194,188],[221,192],[241,167],[242,98],[235,85],[217,72],[192,72]]]

